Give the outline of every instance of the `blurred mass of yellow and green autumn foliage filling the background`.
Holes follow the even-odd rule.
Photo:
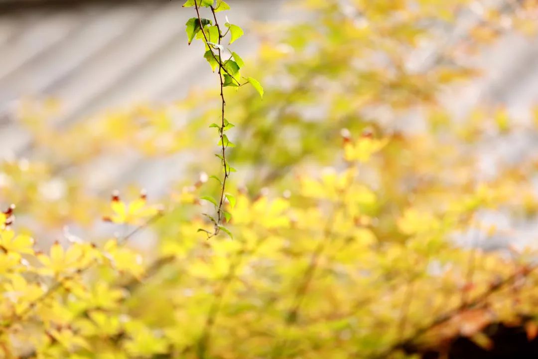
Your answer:
[[[211,19],[228,8],[196,1]],[[536,2],[493,3],[305,0],[307,20],[259,25],[263,101],[223,90],[237,174],[220,198],[214,89],[62,131],[56,100],[24,102],[35,153],[0,162],[2,205],[17,204],[0,213],[0,358],[442,357],[458,336],[495,350],[486,329],[504,325],[534,340],[538,157],[499,149],[538,112],[458,117],[442,98],[476,78],[465,60],[502,24],[535,27]],[[126,156],[165,163],[151,176],[166,211],[145,192],[103,199],[117,183],[100,161]],[[161,182],[169,156],[181,171]],[[208,240],[211,206],[226,227]]]

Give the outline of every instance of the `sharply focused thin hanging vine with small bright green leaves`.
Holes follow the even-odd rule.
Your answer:
[[[209,127],[218,130],[218,146],[220,146],[220,151],[219,153],[216,153],[215,156],[221,160],[224,172],[224,177],[222,177],[222,179],[216,175],[211,176],[211,178],[215,179],[220,184],[221,190],[218,199],[209,195],[201,197],[202,200],[209,201],[215,206],[215,216],[204,214],[214,224],[214,230],[208,231],[200,228],[199,231],[205,232],[208,239],[219,234],[221,230],[232,237],[230,230],[222,225],[224,221],[228,222],[231,219],[231,214],[224,210],[225,201],[228,200],[231,207],[235,205],[235,198],[233,195],[226,193],[226,182],[228,181],[231,172],[236,171],[235,168],[230,166],[230,163],[226,158],[226,149],[228,149],[228,147],[234,147],[235,144],[230,141],[225,133],[233,128],[234,125],[225,117],[226,100],[224,98],[224,87],[241,87],[250,83],[262,97],[264,90],[256,79],[250,77],[244,78],[239,74],[239,69],[244,66],[243,60],[237,53],[232,52],[227,48],[225,49],[222,45],[222,40],[228,36],[228,34],[230,34],[229,45],[244,34],[243,29],[237,25],[230,24],[228,18],[226,18],[226,23],[224,24],[228,30],[225,32],[221,30],[221,25],[217,20],[217,12],[229,10],[230,6],[222,0],[217,0],[216,3],[214,0],[187,0],[187,2],[183,4],[183,7],[192,6],[194,6],[194,9],[196,10],[196,17],[190,18],[186,23],[189,45],[195,38],[202,40],[206,50],[206,52],[204,52],[204,58],[209,62],[213,72],[218,68],[217,74],[220,82],[221,96],[220,124],[212,123]],[[209,8],[213,15],[213,20],[202,18],[200,15],[201,8]],[[213,23],[213,21],[215,23]],[[230,57],[223,61],[225,50],[228,50]]]

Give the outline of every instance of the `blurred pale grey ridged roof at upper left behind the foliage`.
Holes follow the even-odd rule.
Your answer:
[[[21,98],[59,98],[58,126],[68,126],[102,110],[136,102],[168,102],[192,87],[214,79],[201,57],[201,44],[188,46],[186,20],[192,11],[178,1],[27,1],[0,3],[0,151],[32,156],[32,138],[16,121]],[[27,4],[26,4],[27,3]],[[230,19],[248,29],[252,20],[277,14],[277,1],[229,1]],[[270,3],[274,13],[262,11]],[[267,8],[267,6],[266,6]],[[7,9],[7,10],[6,10]],[[6,10],[6,11],[2,11]],[[9,10],[9,11],[8,11]],[[256,39],[247,35],[235,48],[247,56]],[[169,172],[164,164],[141,163],[139,158],[98,161],[106,173],[96,188],[109,191],[122,182],[141,180],[158,192]],[[159,178],[157,178],[159,177]]]

